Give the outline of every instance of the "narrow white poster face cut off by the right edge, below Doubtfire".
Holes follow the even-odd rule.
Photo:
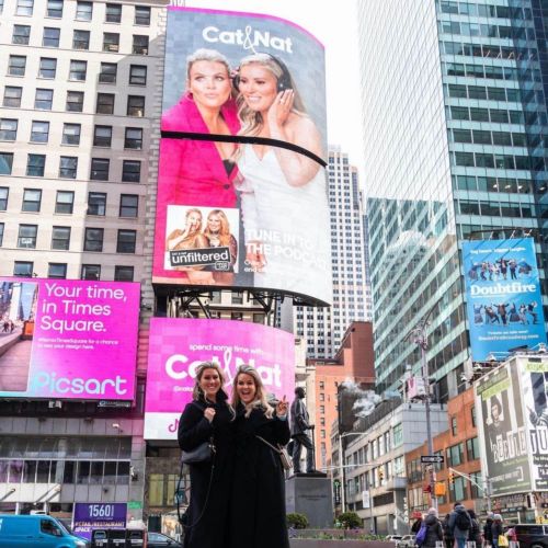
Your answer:
[[[548,490],[548,362],[521,359],[533,490]]]

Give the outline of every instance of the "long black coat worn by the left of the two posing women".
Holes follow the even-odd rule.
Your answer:
[[[204,416],[206,407],[215,408],[212,423]],[[192,450],[207,442],[213,435],[216,447],[215,468],[212,479],[212,463],[190,465],[191,502],[186,514],[186,523],[193,527],[185,529],[183,546],[185,548],[225,548],[228,526],[228,504],[230,477],[233,467],[233,429],[232,413],[221,396],[217,403],[204,400],[189,403],[179,421],[179,446],[183,450]],[[209,498],[207,490],[212,487]],[[207,499],[207,503],[206,503]],[[202,511],[205,511],[202,517]],[[199,518],[199,520],[198,520]]]

